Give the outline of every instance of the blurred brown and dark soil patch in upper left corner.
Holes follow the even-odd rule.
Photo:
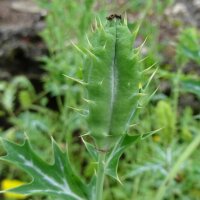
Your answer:
[[[19,74],[38,77],[36,58],[47,53],[39,36],[45,14],[31,0],[0,1],[0,79]]]

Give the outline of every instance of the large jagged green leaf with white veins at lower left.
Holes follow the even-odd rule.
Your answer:
[[[0,159],[15,164],[32,177],[29,184],[11,189],[10,192],[25,195],[45,194],[60,200],[87,199],[87,187],[74,173],[68,155],[60,150],[55,141],[52,141],[54,152],[54,164],[52,165],[44,162],[35,154],[28,139],[23,145],[4,139],[2,142],[7,155]]]

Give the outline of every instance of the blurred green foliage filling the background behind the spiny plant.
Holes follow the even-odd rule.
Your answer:
[[[86,179],[94,170],[80,135],[86,133],[82,109],[83,89],[63,74],[81,78],[82,57],[71,44],[85,45],[95,18],[105,23],[111,13],[127,14],[132,31],[141,23],[135,47],[142,48],[144,69],[157,63],[159,70],[149,92],[156,93],[135,118],[131,134],[163,128],[122,156],[119,175],[123,185],[107,179],[104,199],[154,199],[160,185],[183,152],[200,134],[200,24],[188,22],[186,1],[175,0],[37,0],[47,11],[39,37],[47,53],[35,58],[40,87],[26,74],[0,79],[0,136],[22,143],[28,136],[43,159],[52,162],[51,136],[63,147]],[[199,6],[198,1],[191,1]],[[185,7],[184,7],[185,6]],[[189,14],[187,14],[189,12]],[[179,16],[179,14],[181,16]],[[185,14],[185,15],[184,15]],[[183,15],[183,16],[182,16]],[[193,19],[195,20],[195,18]],[[36,47],[37,48],[37,47]],[[19,67],[19,66],[18,66]],[[152,68],[151,74],[155,68]],[[77,111],[81,111],[81,114]],[[179,165],[165,190],[166,200],[200,199],[198,145]],[[0,147],[3,155],[3,148]],[[2,163],[0,181],[30,181],[20,170]],[[1,197],[3,199],[3,197]],[[8,198],[4,198],[8,199]],[[27,199],[45,199],[28,197]]]

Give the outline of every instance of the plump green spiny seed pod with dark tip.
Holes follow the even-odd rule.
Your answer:
[[[93,102],[88,104],[89,132],[101,150],[126,133],[141,96],[133,94],[142,81],[139,52],[132,48],[134,34],[120,16],[107,19],[90,38],[83,69],[86,99]]]

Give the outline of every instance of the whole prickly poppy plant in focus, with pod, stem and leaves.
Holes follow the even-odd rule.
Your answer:
[[[84,140],[98,163],[97,173],[86,184],[72,169],[66,153],[52,140],[54,164],[35,154],[29,140],[17,145],[2,140],[7,155],[1,160],[16,164],[32,176],[32,182],[9,190],[26,195],[46,194],[56,200],[101,200],[105,175],[119,181],[118,160],[123,151],[141,136],[128,135],[128,129],[150,80],[141,71],[140,48],[133,48],[137,31],[131,33],[127,21],[111,15],[106,25],[96,23],[87,37],[88,48],[74,45],[84,57],[83,80],[68,77],[86,88],[88,134],[94,144]],[[144,85],[145,87],[142,87]],[[5,192],[5,191],[2,191]]]

